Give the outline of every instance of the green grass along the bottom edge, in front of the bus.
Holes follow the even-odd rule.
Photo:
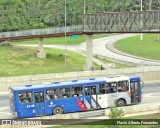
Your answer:
[[[135,117],[127,117],[123,119],[160,119],[160,114],[150,114],[150,115],[142,115],[142,116],[135,116]],[[99,125],[97,125],[99,124]],[[106,121],[98,121],[97,122],[91,122],[91,123],[83,123],[76,124],[76,125],[63,125],[63,126],[55,126],[50,128],[113,128],[112,125],[105,125]],[[160,125],[115,125],[119,126],[118,128],[158,128]]]

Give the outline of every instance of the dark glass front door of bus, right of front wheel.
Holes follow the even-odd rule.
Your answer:
[[[131,90],[131,103],[138,103],[139,101],[139,88],[138,88],[138,82],[131,82],[130,85],[130,90]]]

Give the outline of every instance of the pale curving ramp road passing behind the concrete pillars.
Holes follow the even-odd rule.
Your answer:
[[[135,36],[137,34],[120,34],[120,35],[113,35],[113,36],[108,36],[108,37],[103,37],[103,38],[98,38],[93,40],[93,54],[101,55],[106,58],[112,58],[114,60],[119,60],[123,62],[129,62],[135,65],[150,65],[150,66],[155,66],[155,65],[160,65],[160,61],[155,61],[151,59],[144,59],[140,57],[133,57],[133,56],[126,56],[122,55],[119,53],[112,52],[111,50],[107,49],[107,45],[113,45],[114,42],[126,38],[126,37],[131,37]],[[31,47],[37,47],[37,45],[32,45],[32,44],[27,44],[24,45],[22,44],[21,46],[31,46]],[[44,45],[44,47],[47,48],[57,48],[57,49],[64,49],[64,45]],[[86,42],[81,43],[80,45],[75,45],[75,46],[66,46],[67,50],[71,50],[74,52],[78,53],[84,53],[86,51]]]

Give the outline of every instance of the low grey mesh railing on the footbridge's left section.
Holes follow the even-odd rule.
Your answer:
[[[66,32],[81,32],[83,31],[83,25],[72,25],[66,27]],[[12,31],[12,32],[2,32],[0,33],[0,38],[10,38],[10,37],[22,37],[22,36],[41,36],[48,34],[59,34],[65,33],[65,27],[55,27],[55,28],[44,28],[44,29],[31,29],[22,31]]]

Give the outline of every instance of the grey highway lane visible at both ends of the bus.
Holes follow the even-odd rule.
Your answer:
[[[160,102],[160,83],[144,84],[142,89],[142,103]],[[0,119],[13,119],[14,116],[9,112],[8,94],[0,94]]]

